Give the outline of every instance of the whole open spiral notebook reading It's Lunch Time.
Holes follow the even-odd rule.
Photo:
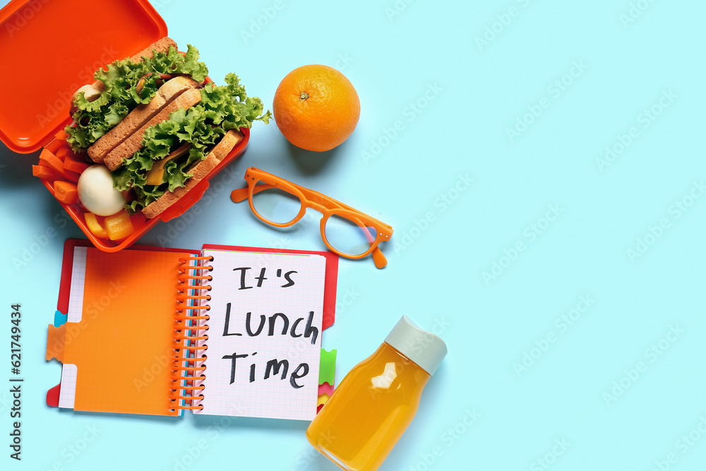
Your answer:
[[[73,410],[311,420],[337,256],[204,245],[64,247],[47,403]]]

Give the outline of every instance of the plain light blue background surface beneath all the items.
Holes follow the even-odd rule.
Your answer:
[[[266,107],[293,68],[339,68],[361,98],[357,130],[317,155],[292,148],[275,124],[257,124],[247,153],[231,165],[237,180],[215,177],[213,203],[193,222],[161,223],[140,242],[160,245],[179,224],[184,230],[169,246],[323,249],[316,225],[280,234],[229,200],[251,165],[392,225],[388,268],[340,261],[340,305],[323,340],[338,349],[338,382],[402,314],[426,328],[445,326],[448,357],[383,469],[704,470],[705,4],[398,0],[394,11],[393,0],[281,0],[261,31],[244,38],[274,4],[155,1],[169,35],[196,45],[215,81],[237,72]],[[486,28],[497,32],[479,44]],[[558,93],[553,84],[562,80]],[[652,107],[660,114],[645,121]],[[511,140],[507,129],[532,109],[542,112]],[[623,152],[600,165],[606,146],[620,150],[633,127]],[[62,246],[82,233],[56,222],[63,213],[32,177],[36,161],[37,153],[0,150],[0,357],[9,356],[9,305],[20,302],[25,377],[21,464],[8,458],[9,396],[0,393],[2,466],[174,470],[175,460],[189,463],[186,447],[203,440],[186,469],[335,469],[306,442],[303,423],[226,419],[220,427],[218,417],[44,404],[60,375],[44,350]],[[457,187],[462,178],[472,183]],[[551,221],[543,220],[548,212]],[[14,268],[49,228],[56,237]],[[650,245],[631,257],[638,238]],[[518,242],[524,249],[513,252]],[[493,263],[496,278],[484,279]],[[590,299],[587,309],[581,297]],[[584,312],[572,313],[577,308]],[[561,321],[576,314],[570,326]],[[521,371],[515,363],[525,353],[535,358]],[[644,368],[635,378],[638,362]],[[0,366],[6,381],[8,361]],[[614,381],[627,388],[621,393]],[[467,426],[469,412],[479,417]],[[74,455],[91,427],[95,438]]]

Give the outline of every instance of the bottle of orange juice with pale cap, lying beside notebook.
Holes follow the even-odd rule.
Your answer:
[[[375,353],[353,367],[306,438],[341,469],[377,470],[417,414],[446,344],[402,316]]]

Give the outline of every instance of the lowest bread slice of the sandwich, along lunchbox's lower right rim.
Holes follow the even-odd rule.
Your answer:
[[[160,198],[154,203],[148,204],[142,213],[148,219],[152,219],[157,215],[160,215],[164,210],[173,205],[182,196],[189,193],[189,191],[198,184],[199,181],[203,180],[210,172],[217,167],[220,162],[225,159],[226,155],[230,153],[231,150],[244,138],[243,133],[237,129],[232,129],[225,133],[225,136],[217,143],[210,153],[206,155],[204,160],[197,162],[192,165],[188,173],[192,174],[191,178],[186,182],[186,186],[180,186],[172,192],[164,193]]]

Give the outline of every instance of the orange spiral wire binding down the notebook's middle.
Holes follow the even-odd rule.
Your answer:
[[[203,380],[206,378],[203,364],[208,349],[208,301],[211,275],[203,270],[213,266],[203,265],[213,261],[212,256],[179,258],[179,288],[177,289],[177,313],[174,317],[174,357],[172,357],[172,387],[169,393],[169,412],[177,410],[203,409]]]

